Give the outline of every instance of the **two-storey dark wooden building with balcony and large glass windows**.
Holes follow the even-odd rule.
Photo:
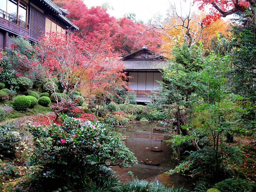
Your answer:
[[[67,36],[78,30],[51,0],[0,0],[0,49],[9,47],[11,36],[28,36],[37,41],[45,32],[60,32]]]

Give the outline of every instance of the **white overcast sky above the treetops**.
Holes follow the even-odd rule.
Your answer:
[[[174,0],[171,1],[173,2]],[[121,18],[125,13],[135,13],[136,20],[142,20],[144,23],[148,22],[148,20],[153,18],[154,15],[158,14],[165,18],[167,9],[169,9],[170,6],[169,0],[84,0],[84,3],[88,8],[91,8],[92,6],[100,6],[104,3],[109,3],[109,5],[113,6],[114,9],[108,10],[110,16]],[[184,7],[187,5],[184,5]]]

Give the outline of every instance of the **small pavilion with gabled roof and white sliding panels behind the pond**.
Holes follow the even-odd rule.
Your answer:
[[[129,78],[129,87],[131,87],[137,97],[136,102],[147,102],[150,98],[146,95],[151,94],[151,90],[157,92],[160,84],[157,81],[163,81],[159,69],[168,65],[163,55],[150,51],[146,46],[122,58],[125,71]]]

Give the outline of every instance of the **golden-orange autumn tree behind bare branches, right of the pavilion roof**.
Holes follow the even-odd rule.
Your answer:
[[[172,50],[176,41],[181,43],[187,42],[189,46],[201,41],[205,49],[210,49],[211,39],[216,36],[216,32],[222,33],[225,36],[229,35],[229,21],[219,19],[212,22],[208,26],[202,23],[206,13],[193,13],[186,17],[178,16],[175,12],[173,15],[162,24],[162,48],[168,53]]]

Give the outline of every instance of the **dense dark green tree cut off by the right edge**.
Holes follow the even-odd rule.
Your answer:
[[[251,101],[255,103],[256,16],[249,11],[240,13],[239,16],[232,30],[234,40],[231,42],[231,57],[234,68],[229,74],[232,79],[230,87],[235,93],[251,97]]]

